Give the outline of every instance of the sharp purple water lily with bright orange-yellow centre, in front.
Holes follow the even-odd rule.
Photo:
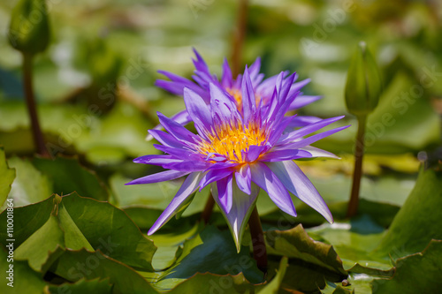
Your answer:
[[[250,71],[255,72],[255,67]],[[287,125],[296,117],[285,117],[298,99],[299,93],[292,90],[295,74],[286,77],[286,73],[281,72],[278,75],[265,107],[263,99],[256,99],[252,79],[255,77],[246,67],[240,85],[241,109],[232,95],[226,94],[214,83],[208,85],[209,95],[204,97],[202,91],[197,93],[195,88],[185,87],[187,114],[194,121],[197,134],[158,113],[167,132],[150,130],[149,133],[161,143],[155,147],[165,155],[145,155],[133,162],[158,165],[165,171],[135,179],[127,185],[187,178],[150,228],[149,235],[186,207],[193,193],[198,189],[201,191],[206,185],[210,185],[212,196],[232,230],[238,251],[260,188],[288,215],[296,216],[289,194],[292,192],[324,215],[327,221],[333,222],[324,200],[293,160],[336,157],[309,145],[347,126],[306,138],[342,118],[332,117],[285,132]]]

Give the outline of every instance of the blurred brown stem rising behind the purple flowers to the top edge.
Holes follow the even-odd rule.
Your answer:
[[[240,73],[242,47],[246,38],[248,18],[248,0],[240,0],[238,17],[232,43],[232,75],[236,77]]]

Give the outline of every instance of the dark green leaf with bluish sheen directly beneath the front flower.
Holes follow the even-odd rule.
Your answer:
[[[168,290],[196,273],[238,275],[243,273],[250,283],[263,283],[263,273],[250,258],[248,247],[236,252],[229,231],[219,231],[208,226],[187,240],[176,262],[158,276],[156,286]]]

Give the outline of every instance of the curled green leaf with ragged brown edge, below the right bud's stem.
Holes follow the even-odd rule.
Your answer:
[[[339,282],[347,278],[347,272],[333,247],[314,241],[301,224],[291,230],[267,231],[264,235],[268,254],[290,259],[283,288],[313,291],[318,287],[323,289],[324,280]]]

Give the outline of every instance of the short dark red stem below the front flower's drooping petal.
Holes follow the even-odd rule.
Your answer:
[[[265,275],[267,274],[267,249],[265,248],[263,227],[256,206],[248,219],[248,227],[250,235],[252,235],[253,257],[256,260],[256,265]]]

